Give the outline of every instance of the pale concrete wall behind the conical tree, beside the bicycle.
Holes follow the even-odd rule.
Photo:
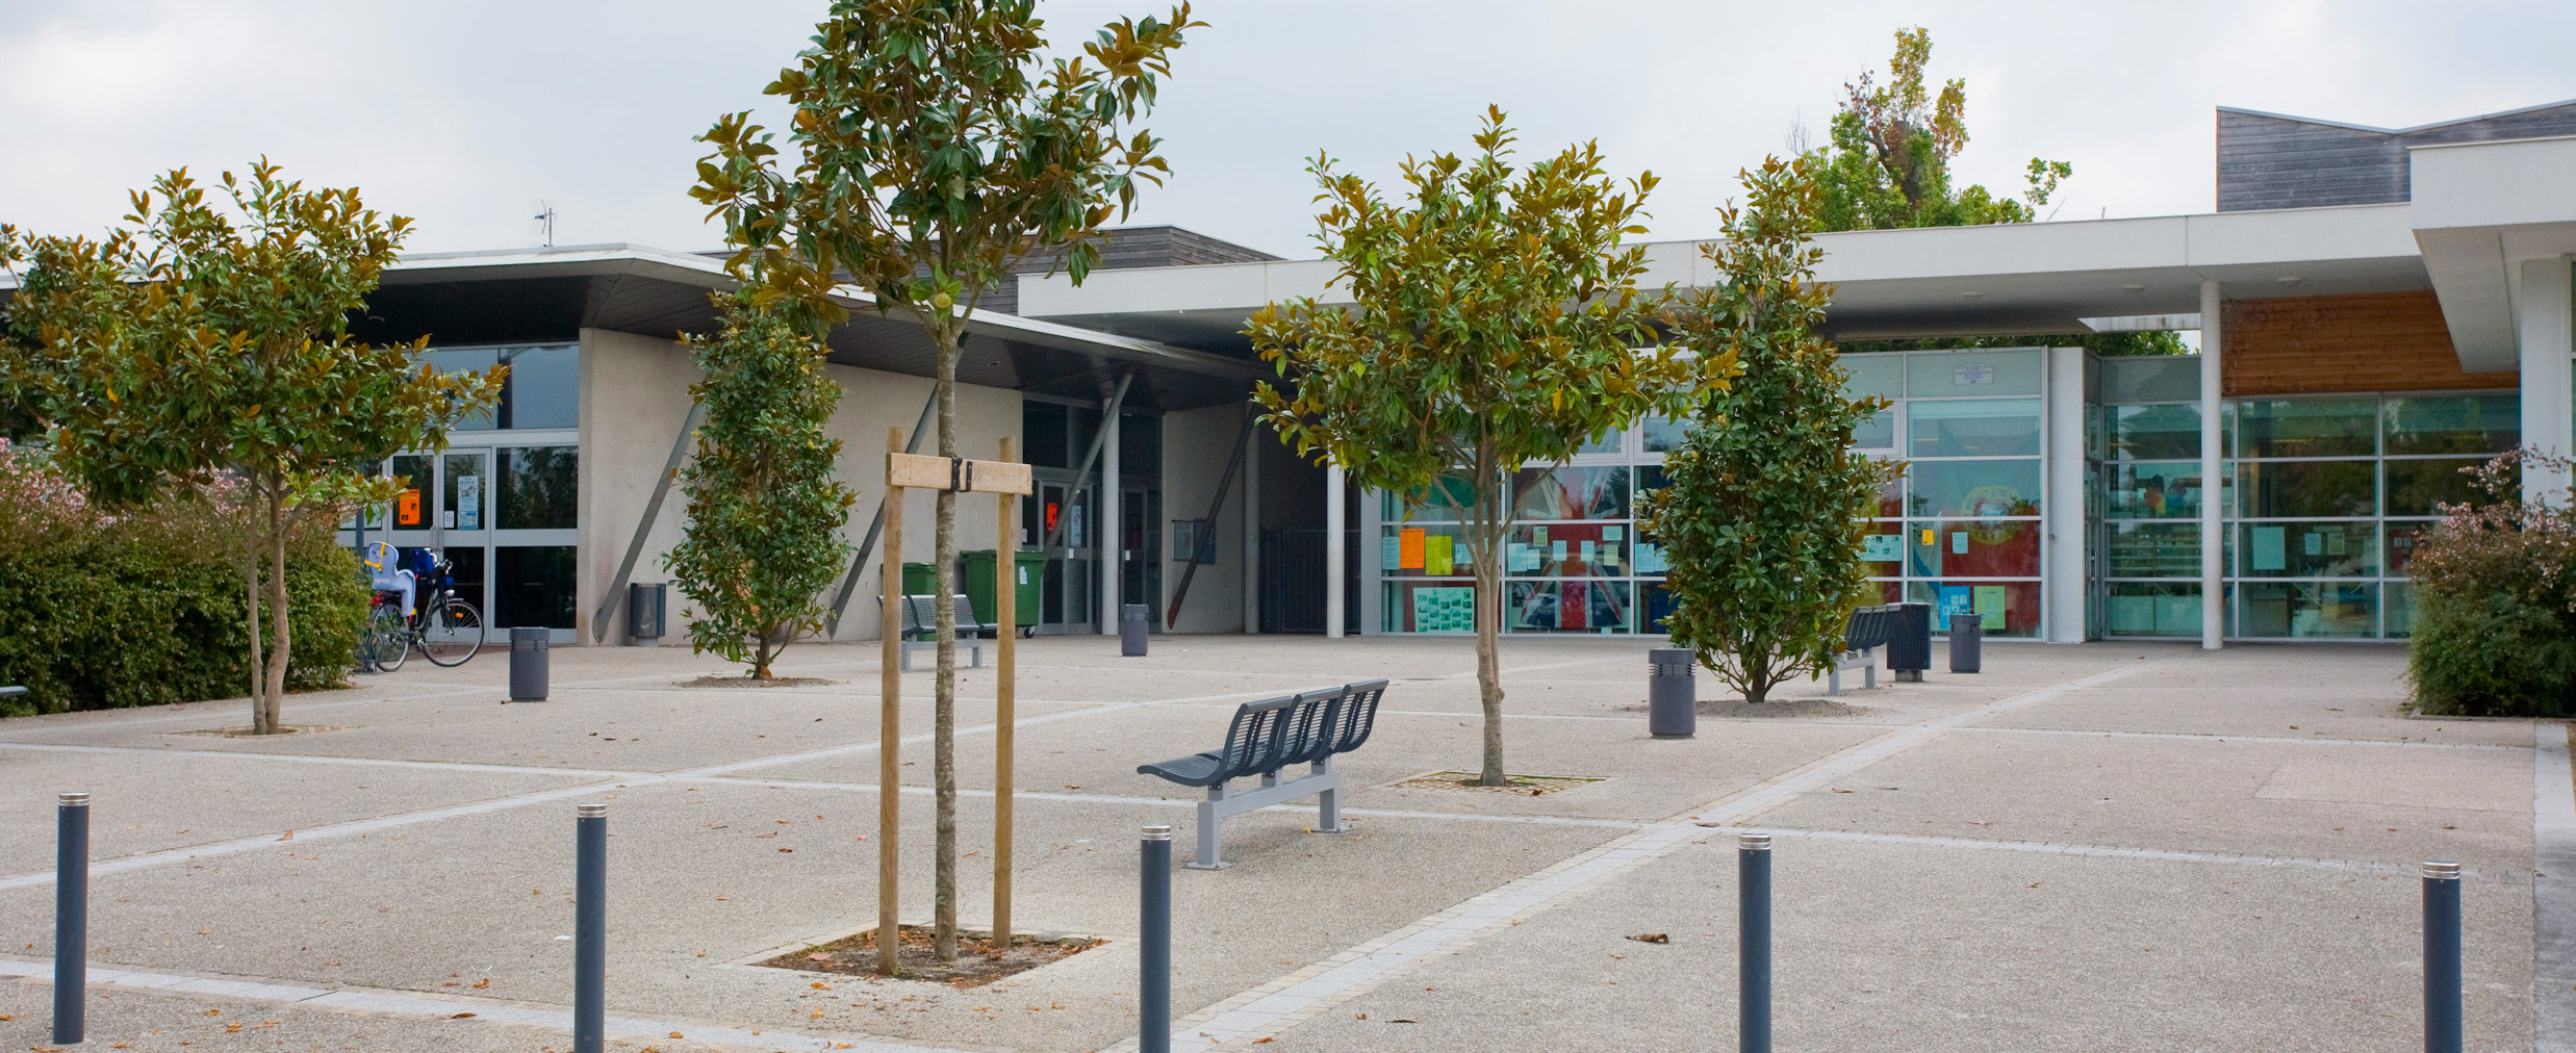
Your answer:
[[[829,371],[842,386],[842,399],[827,433],[842,443],[840,476],[858,489],[858,505],[850,507],[845,528],[848,541],[855,546],[866,536],[878,502],[886,497],[886,427],[909,433],[912,422],[920,420],[922,402],[930,399],[933,381],[850,366],[829,366]],[[698,368],[688,360],[688,350],[672,340],[582,330],[582,569],[580,610],[574,615],[582,644],[590,641],[590,615],[616,579],[618,559],[626,556],[636,520],[644,515],[647,499],[652,499],[654,479],[670,458],[680,422],[688,417],[688,386],[696,381]],[[956,402],[961,456],[992,458],[999,453],[1002,435],[1018,438],[1018,391],[961,384]],[[933,448],[935,440],[925,438],[922,453]],[[958,497],[958,551],[994,546],[994,505],[992,494]],[[644,541],[631,579],[670,579],[670,572],[662,569],[662,554],[680,543],[685,517],[685,497],[672,487],[662,502],[662,515]],[[935,494],[904,494],[907,561],[930,561],[933,517]],[[876,638],[881,566],[884,551],[871,554],[835,638]],[[665,646],[685,646],[685,597],[675,592],[670,636],[662,638]],[[611,626],[608,644],[626,644],[623,613]]]

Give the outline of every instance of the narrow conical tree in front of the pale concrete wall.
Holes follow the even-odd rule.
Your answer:
[[[690,389],[706,407],[698,456],[680,471],[688,533],[665,556],[680,592],[698,602],[690,649],[770,662],[796,636],[822,628],[822,590],[832,587],[850,543],[840,525],[858,492],[832,474],[840,440],[824,438],[840,384],[822,348],[778,314],[716,294],[724,332],[693,337],[706,381]]]

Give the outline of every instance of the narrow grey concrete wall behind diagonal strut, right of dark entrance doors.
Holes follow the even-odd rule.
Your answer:
[[[1244,409],[1206,407],[1162,415],[1162,515],[1167,520],[1195,520],[1208,515],[1216,481],[1234,456],[1234,435],[1244,427]],[[1255,435],[1260,440],[1260,435]],[[1275,443],[1275,440],[1273,440]],[[1249,456],[1249,451],[1247,451]],[[1267,463],[1265,463],[1267,469]],[[1175,633],[1242,633],[1244,631],[1244,481],[1236,471],[1226,507],[1216,515],[1216,564],[1200,566],[1190,579],[1190,597],[1180,608]],[[1164,523],[1162,608],[1170,610],[1180,590],[1185,559],[1172,556],[1170,523]],[[1157,610],[1162,615],[1162,610]]]

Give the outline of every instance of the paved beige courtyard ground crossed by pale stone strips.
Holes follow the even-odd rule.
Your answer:
[[[0,721],[0,1048],[46,1045],[57,790],[95,798],[85,1048],[564,1050],[580,801],[611,808],[611,1048],[1133,1048],[1136,829],[1188,860],[1195,798],[1136,765],[1365,677],[1358,832],[1283,806],[1177,873],[1177,1048],[1734,1048],[1739,829],[1777,844],[1783,1050],[2421,1048],[2419,860],[2465,870],[2470,1048],[2576,1043],[2568,731],[2406,718],[2398,649],[1989,646],[1687,741],[1646,736],[1643,649],[1507,641],[1510,770],[1600,783],[1499,796],[1399,785],[1476,765],[1461,638],[1023,644],[1018,927],[1108,942],[981,989],[750,965],[876,919],[873,646],[791,649],[832,685],[775,690],[559,649],[523,705],[507,654],[412,662],[289,698],[332,729],[273,741],[198,734],[242,703]],[[930,675],[904,693],[927,922]],[[961,695],[981,924],[989,669]]]

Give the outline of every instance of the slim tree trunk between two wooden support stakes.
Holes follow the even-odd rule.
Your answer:
[[[958,456],[958,322],[940,312],[933,340],[940,348],[940,456]],[[933,559],[938,559],[940,592],[930,608],[938,613],[940,664],[935,703],[930,711],[930,770],[938,829],[938,868],[930,899],[930,947],[940,963],[958,960],[958,615],[951,600],[958,592],[958,494],[940,489],[933,517]]]

